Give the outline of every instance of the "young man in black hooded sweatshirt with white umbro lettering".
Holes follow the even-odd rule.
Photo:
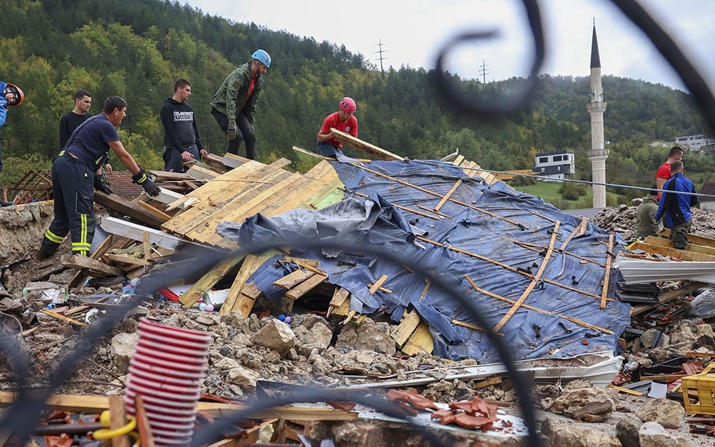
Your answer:
[[[164,170],[184,172],[184,163],[208,154],[196,128],[194,109],[186,102],[191,96],[191,82],[174,81],[174,95],[164,102],[159,116],[164,127]]]

